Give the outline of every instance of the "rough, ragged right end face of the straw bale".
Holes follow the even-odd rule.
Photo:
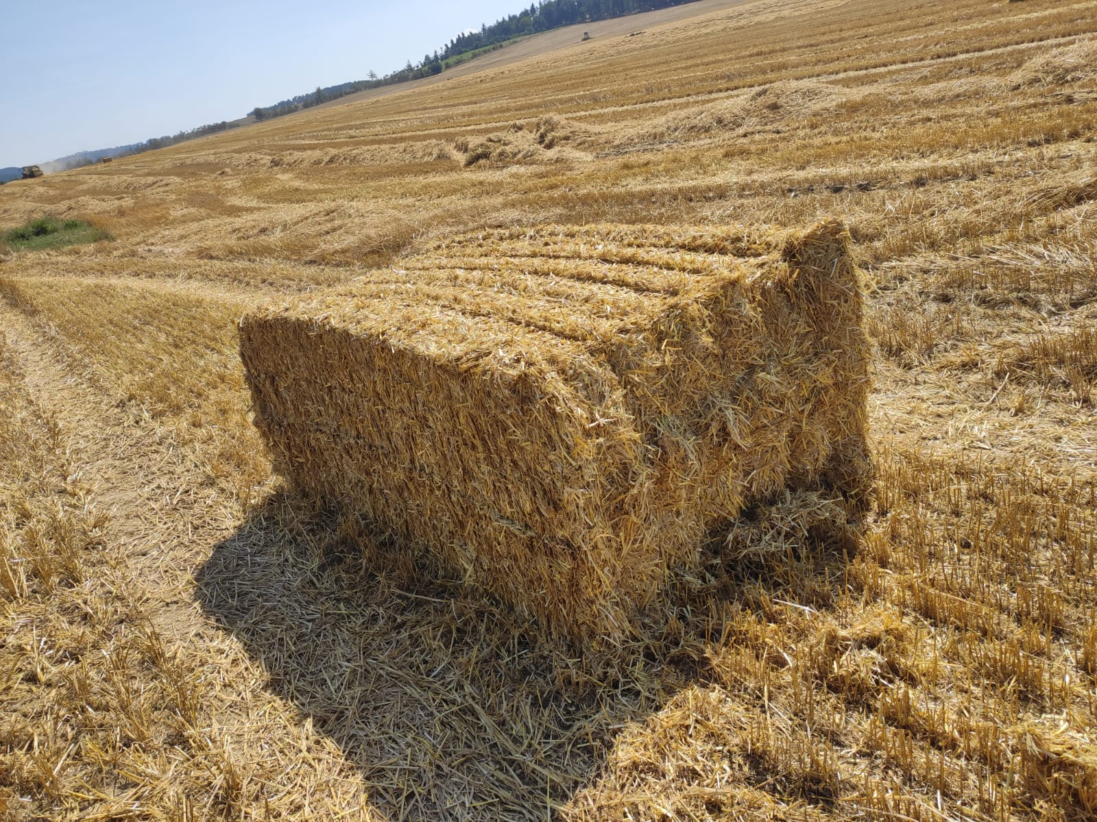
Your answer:
[[[827,222],[770,242],[748,276],[661,315],[653,336],[656,350],[674,341],[666,368],[630,380],[658,448],[659,482],[640,504],[676,518],[671,562],[787,489],[833,490],[855,516],[866,501],[868,341],[848,236]],[[624,357],[609,359],[627,373]]]

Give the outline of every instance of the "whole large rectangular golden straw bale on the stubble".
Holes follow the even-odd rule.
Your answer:
[[[252,313],[256,424],[360,512],[574,639],[620,637],[705,535],[867,479],[849,236],[485,231]]]

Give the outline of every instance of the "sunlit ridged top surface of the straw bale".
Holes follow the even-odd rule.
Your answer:
[[[488,230],[268,316],[338,327],[462,367],[487,356],[504,373],[580,361],[597,369],[590,357],[607,344],[626,336],[660,343],[652,335],[658,318],[750,282],[780,254],[781,235],[743,228]]]

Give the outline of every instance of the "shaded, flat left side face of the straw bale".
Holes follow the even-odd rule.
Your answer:
[[[617,625],[657,572],[653,551],[623,557],[604,536],[638,438],[619,396],[573,388],[600,387],[597,365],[514,364],[497,356],[508,342],[486,334],[480,358],[429,358],[319,322],[257,318],[241,332],[256,422],[297,492],[429,544],[551,625]]]

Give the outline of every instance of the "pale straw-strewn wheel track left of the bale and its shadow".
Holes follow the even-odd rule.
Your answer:
[[[117,682],[122,692],[137,696],[116,710],[100,710],[90,721],[124,728],[133,721],[131,712],[138,712],[137,719],[148,722],[154,734],[143,743],[145,752],[142,745],[134,747],[147,767],[139,778],[115,784],[109,773],[104,787],[97,784],[92,791],[72,795],[80,803],[79,818],[220,819],[214,808],[261,804],[271,819],[329,819],[331,808],[347,807],[359,808],[357,818],[365,822],[380,819],[365,803],[369,791],[359,767],[312,720],[301,721],[293,699],[270,687],[262,661],[211,615],[208,592],[203,597],[196,590],[199,569],[218,547],[229,546],[222,555],[231,555],[231,561],[237,557],[234,547],[247,551],[265,532],[251,535],[250,541],[247,536],[235,539],[240,528],[237,512],[224,488],[204,470],[195,446],[167,424],[135,412],[134,403],[113,400],[83,374],[76,352],[67,351],[48,323],[3,297],[0,345],[13,359],[26,398],[45,422],[59,429],[59,450],[71,478],[81,490],[90,490],[86,504],[106,514],[99,526],[102,543],[91,550],[102,550],[110,562],[89,584],[109,590],[112,602],[122,604],[117,628],[111,630],[124,639],[93,654],[98,669],[91,666],[92,684],[114,693],[108,680]],[[207,571],[203,584],[216,591],[222,605],[235,606],[239,574],[218,585]],[[256,596],[263,593],[252,592]],[[150,698],[161,701],[144,700],[138,692],[145,686]],[[163,729],[171,728],[182,730],[163,735]],[[81,733],[90,737],[93,731]],[[248,751],[251,739],[262,740],[261,752]],[[71,743],[69,753],[76,746]],[[3,755],[0,745],[0,770],[7,764]],[[126,752],[112,756],[123,765],[128,762]],[[250,785],[237,783],[236,792],[226,795],[224,786],[239,773],[235,763],[245,756],[257,763],[249,774],[259,777]],[[278,786],[276,794],[264,792],[264,786]],[[0,819],[7,820],[3,799],[0,791]],[[320,809],[319,817],[313,815],[310,802]],[[275,807],[282,810],[270,817]],[[245,813],[226,811],[224,818],[229,815]]]

